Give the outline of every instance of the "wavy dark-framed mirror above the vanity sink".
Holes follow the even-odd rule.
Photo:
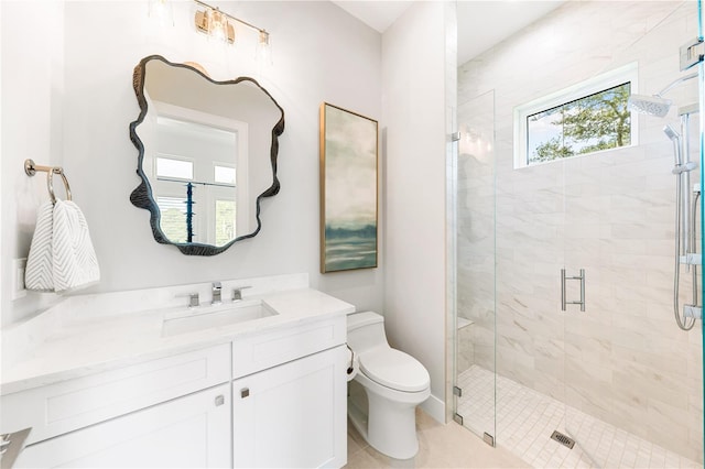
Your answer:
[[[197,64],[159,55],[134,68],[140,114],[130,123],[154,239],[214,255],[261,229],[260,203],[279,193],[284,111],[254,79],[215,81]]]

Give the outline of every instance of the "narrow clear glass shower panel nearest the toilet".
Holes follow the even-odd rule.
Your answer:
[[[496,435],[495,92],[459,103],[455,419]]]

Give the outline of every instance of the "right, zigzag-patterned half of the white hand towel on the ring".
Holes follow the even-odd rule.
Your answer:
[[[100,280],[88,223],[70,200],[56,200],[54,205],[52,255],[56,293],[84,288]]]

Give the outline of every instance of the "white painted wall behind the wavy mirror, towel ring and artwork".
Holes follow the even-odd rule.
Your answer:
[[[253,39],[226,55],[196,33],[194,2],[174,2],[173,28],[155,25],[147,0],[34,3],[32,28],[17,21],[24,18],[23,2],[0,2],[2,277],[9,279],[12,259],[26,257],[35,207],[46,199],[43,175],[29,178],[22,170],[24,159],[33,157],[64,166],[90,227],[101,282],[84,292],[307,272],[313,286],[361,309],[381,310],[382,263],[318,274],[318,106],[327,101],[381,118],[380,34],[329,2],[215,3],[270,32],[273,65],[258,66]],[[243,41],[248,34],[241,32]],[[156,243],[149,212],[129,201],[139,183],[138,152],[128,133],[139,112],[132,69],[151,54],[198,62],[214,79],[254,76],[285,112],[282,189],[262,204],[262,230],[214,258],[185,257]],[[3,282],[3,325],[56,301],[30,293],[11,302],[9,292]]]

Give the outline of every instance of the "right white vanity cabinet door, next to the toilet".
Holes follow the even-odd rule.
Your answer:
[[[344,466],[346,359],[340,346],[234,381],[234,467]]]

